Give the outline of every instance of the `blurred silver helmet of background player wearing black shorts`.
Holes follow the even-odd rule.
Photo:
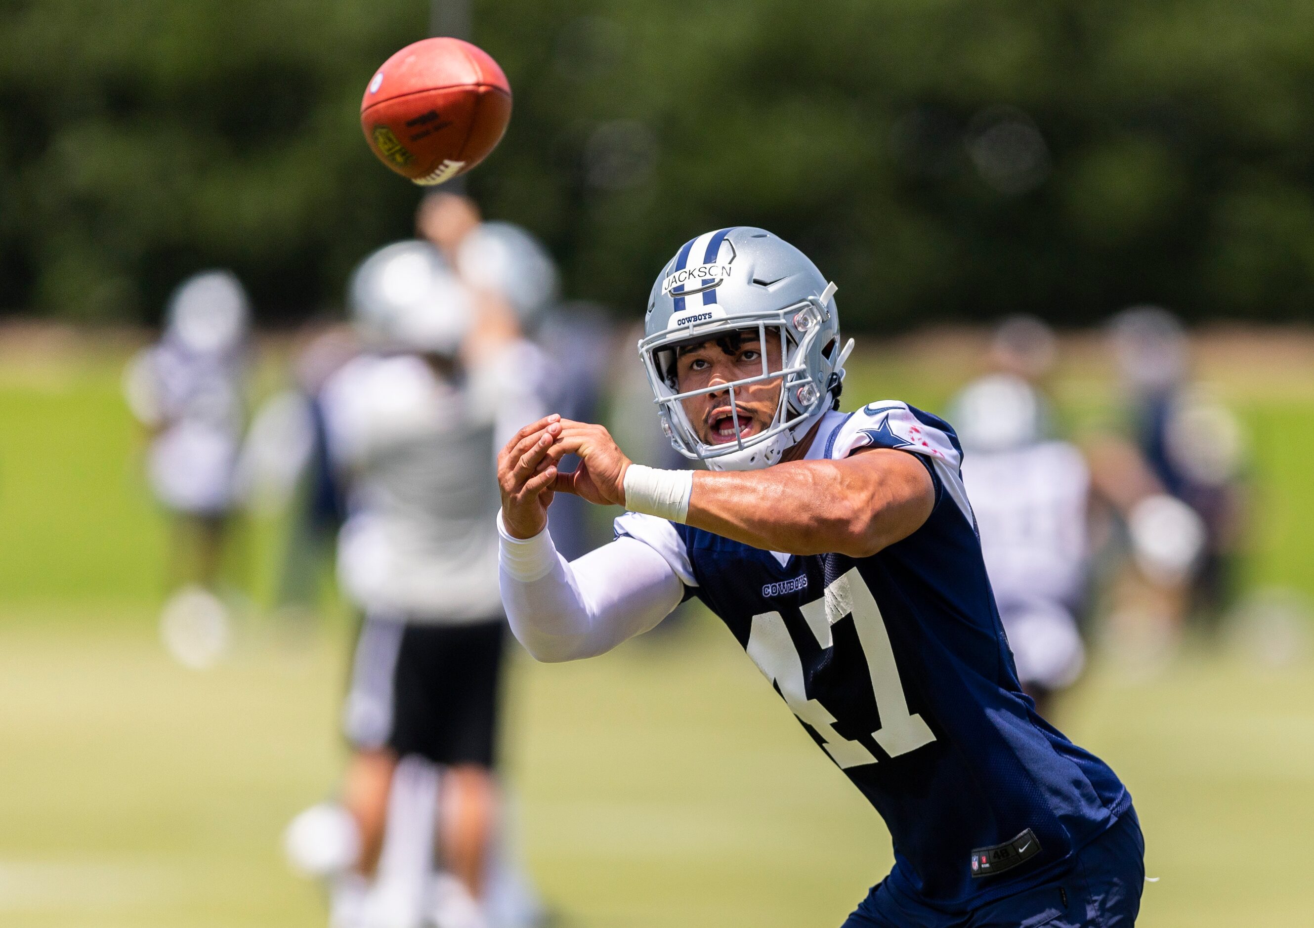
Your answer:
[[[382,347],[452,356],[473,322],[461,281],[438,248],[415,239],[386,244],[361,262],[347,301],[364,336]]]

